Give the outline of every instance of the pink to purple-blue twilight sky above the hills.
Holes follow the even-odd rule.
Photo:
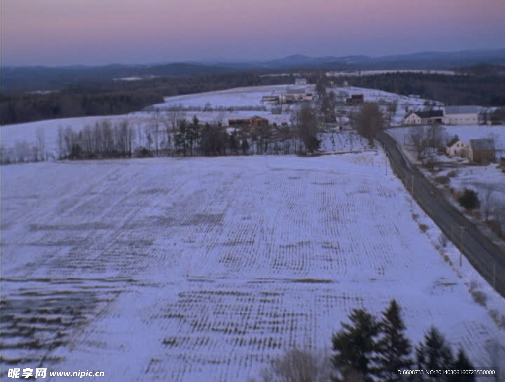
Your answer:
[[[7,64],[505,47],[504,0],[1,0],[0,7]]]

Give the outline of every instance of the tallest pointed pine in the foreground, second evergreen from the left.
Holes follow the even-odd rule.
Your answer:
[[[375,358],[377,374],[384,382],[405,379],[396,374],[396,370],[409,369],[413,365],[410,358],[412,346],[405,337],[406,326],[401,318],[401,308],[395,300],[391,300],[382,312],[379,328],[378,356]]]

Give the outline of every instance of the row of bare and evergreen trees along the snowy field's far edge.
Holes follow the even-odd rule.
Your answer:
[[[202,124],[198,118],[186,120],[185,113],[174,109],[151,122],[134,126],[127,119],[112,123],[104,119],[81,131],[58,129],[58,157],[95,159],[131,156],[193,156],[256,154],[314,154],[320,145],[320,123],[308,105],[293,112],[292,125],[261,125],[229,128],[221,122]],[[17,142],[2,148],[2,163],[46,159],[43,131],[30,145]]]

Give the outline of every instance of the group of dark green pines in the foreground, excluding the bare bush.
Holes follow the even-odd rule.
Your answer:
[[[382,312],[381,318],[366,309],[354,309],[350,323],[342,323],[342,330],[332,339],[333,364],[336,380],[346,380],[349,374],[358,373],[365,382],[402,381],[410,379],[397,370],[469,370],[473,369],[463,349],[456,357],[444,336],[433,326],[415,350],[406,337],[406,325],[401,308],[395,300]],[[413,380],[461,382],[475,380],[473,375],[418,375]]]

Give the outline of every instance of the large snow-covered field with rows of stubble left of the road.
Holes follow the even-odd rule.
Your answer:
[[[382,152],[1,171],[2,377],[244,381],[283,348],[330,347],[352,308],[391,298],[415,342],[434,324],[479,366],[487,340],[505,344]]]

